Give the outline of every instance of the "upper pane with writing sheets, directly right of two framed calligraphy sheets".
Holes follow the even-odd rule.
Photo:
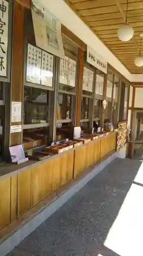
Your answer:
[[[60,84],[59,89],[75,92],[77,48],[63,38],[65,57],[60,58]]]

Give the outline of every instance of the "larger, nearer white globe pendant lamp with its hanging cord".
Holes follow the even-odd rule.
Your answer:
[[[128,14],[128,0],[127,0],[126,22],[117,31],[118,38],[124,42],[129,41],[134,34],[134,30],[132,26],[127,24],[127,14]]]

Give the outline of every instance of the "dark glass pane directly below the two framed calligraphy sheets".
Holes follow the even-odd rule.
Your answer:
[[[49,91],[24,86],[23,123],[48,123]]]

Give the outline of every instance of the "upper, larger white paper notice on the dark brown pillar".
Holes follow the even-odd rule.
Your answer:
[[[21,102],[12,101],[11,122],[21,122]]]

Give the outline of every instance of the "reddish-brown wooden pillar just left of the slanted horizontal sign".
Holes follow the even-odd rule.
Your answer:
[[[75,126],[80,125],[81,95],[82,95],[82,80],[83,80],[83,58],[84,58],[84,51],[79,48]]]

